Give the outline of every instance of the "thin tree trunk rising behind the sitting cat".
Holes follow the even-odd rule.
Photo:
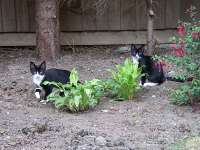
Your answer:
[[[153,0],[146,0],[147,4],[147,55],[152,55],[155,49],[155,39],[153,34],[154,11]]]

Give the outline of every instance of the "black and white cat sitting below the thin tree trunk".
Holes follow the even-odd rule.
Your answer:
[[[162,84],[165,80],[184,82],[183,80],[175,79],[173,77],[165,77],[163,66],[161,63],[154,61],[152,56],[144,55],[145,45],[131,45],[131,56],[133,63],[142,68],[140,84],[146,86],[156,86]]]

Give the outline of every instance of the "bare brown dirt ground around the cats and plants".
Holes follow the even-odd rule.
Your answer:
[[[113,47],[80,47],[47,64],[76,67],[81,80],[106,78],[106,69],[129,55]],[[30,61],[36,61],[32,49],[0,48],[1,150],[164,150],[200,134],[199,113],[169,103],[176,83],[146,88],[132,101],[102,98],[94,110],[70,114],[35,99]]]

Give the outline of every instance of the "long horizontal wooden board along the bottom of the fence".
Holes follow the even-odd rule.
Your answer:
[[[173,30],[155,31],[160,43],[168,43]],[[145,44],[145,31],[121,32],[68,32],[61,34],[61,45],[110,45]],[[35,46],[34,33],[4,33],[0,36],[0,46]]]

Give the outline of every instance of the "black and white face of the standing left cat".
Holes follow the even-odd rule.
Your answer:
[[[33,75],[33,83],[40,87],[40,84],[45,77],[46,62],[43,61],[40,65],[30,62],[30,71]]]

